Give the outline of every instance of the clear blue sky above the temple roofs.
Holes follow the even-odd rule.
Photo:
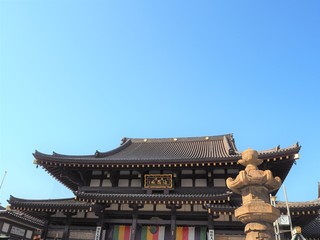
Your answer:
[[[73,196],[35,149],[226,133],[240,151],[298,141],[288,198],[316,199],[319,12],[318,0],[0,0],[1,204]]]

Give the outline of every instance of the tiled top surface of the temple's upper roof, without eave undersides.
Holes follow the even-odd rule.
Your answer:
[[[261,158],[269,156],[297,153],[298,144],[281,149],[275,147],[259,152]],[[226,134],[208,137],[190,138],[124,138],[120,147],[108,152],[96,151],[93,155],[52,155],[34,153],[36,163],[50,161],[56,163],[168,163],[190,162],[194,160],[206,161],[236,161],[241,153],[237,151],[233,135]]]

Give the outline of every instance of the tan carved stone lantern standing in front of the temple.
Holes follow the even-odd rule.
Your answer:
[[[273,222],[280,216],[279,209],[270,204],[269,192],[281,186],[281,179],[273,177],[270,170],[259,170],[263,160],[258,152],[247,149],[238,161],[245,166],[235,179],[228,178],[228,188],[242,196],[242,206],[235,210],[235,216],[245,226],[246,240],[275,239]]]

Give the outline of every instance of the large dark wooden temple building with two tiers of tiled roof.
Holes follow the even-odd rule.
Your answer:
[[[258,151],[261,170],[285,180],[299,158],[300,146]],[[232,134],[190,138],[124,138],[108,152],[71,156],[36,151],[34,163],[74,193],[68,199],[21,199],[11,196],[10,209],[41,220],[47,240],[241,240],[244,224],[234,215],[241,196],[226,179],[244,167]],[[276,195],[277,191],[272,192]],[[276,202],[280,230],[288,221],[308,239],[319,219],[320,201]],[[281,222],[281,221],[282,222]],[[319,220],[318,220],[319,222]],[[0,225],[0,228],[3,226]],[[311,229],[311,230],[310,230]],[[10,229],[7,229],[10,233]],[[30,234],[29,234],[30,236]],[[282,231],[282,239],[290,239]],[[15,239],[15,238],[12,238]],[[18,239],[18,238],[17,238]],[[20,236],[19,239],[30,239]]]

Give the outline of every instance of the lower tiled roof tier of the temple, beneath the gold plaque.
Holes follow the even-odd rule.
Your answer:
[[[92,211],[96,204],[129,203],[129,204],[209,204],[214,211],[232,212],[234,207],[228,204],[231,192],[224,194],[109,194],[76,192],[77,200],[27,200],[10,197],[11,212],[79,212]],[[24,214],[24,213],[23,213]]]

